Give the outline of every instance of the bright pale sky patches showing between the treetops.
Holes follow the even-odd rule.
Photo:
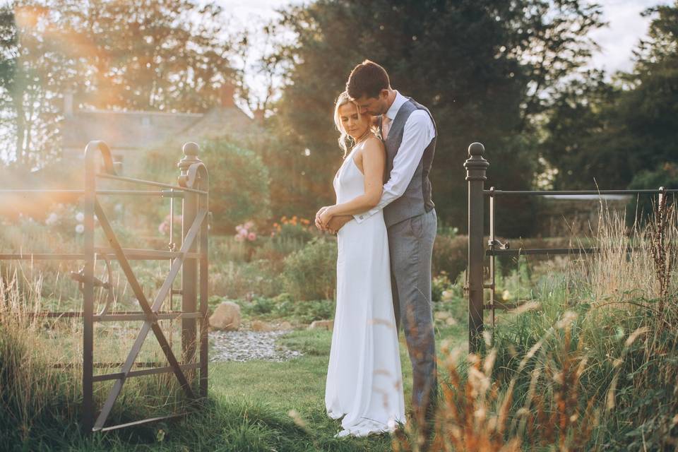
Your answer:
[[[242,23],[275,18],[276,8],[302,3],[298,0],[220,0]],[[600,44],[600,52],[593,56],[590,66],[609,72],[628,71],[633,66],[632,49],[645,36],[650,20],[641,17],[641,11],[669,0],[597,0],[602,5],[604,18],[609,26],[596,30],[592,37]]]

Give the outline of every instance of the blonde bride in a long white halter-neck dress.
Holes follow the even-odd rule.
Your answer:
[[[379,203],[386,150],[369,114],[342,93],[334,121],[344,161],[334,178],[337,201],[321,208],[322,230],[334,217],[365,212]],[[349,138],[350,137],[350,138]],[[347,141],[352,141],[350,149]],[[403,376],[393,313],[388,236],[383,213],[350,220],[337,234],[337,306],[325,388],[327,414],[343,417],[337,436],[393,432],[405,422]]]

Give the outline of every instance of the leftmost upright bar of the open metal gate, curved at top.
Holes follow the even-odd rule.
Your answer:
[[[96,202],[97,172],[95,150],[85,150],[85,195],[83,213],[85,214],[83,254],[85,255],[85,283],[83,285],[83,432],[92,432],[94,426],[93,400],[93,348],[94,348],[94,208]]]

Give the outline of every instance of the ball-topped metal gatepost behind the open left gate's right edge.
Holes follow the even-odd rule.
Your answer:
[[[200,162],[198,159],[197,145],[184,145],[184,157],[179,161],[177,167],[181,170],[179,177],[186,176],[188,169],[194,163]],[[186,191],[182,204],[182,243],[186,237],[189,227],[193,224],[198,213],[198,194]],[[190,252],[196,251],[196,242],[191,244]],[[195,312],[197,310],[197,289],[198,289],[198,263],[195,258],[186,258],[182,268],[182,311]],[[182,319],[182,355],[183,362],[188,364],[193,362],[196,356],[196,321],[195,319]],[[191,376],[194,374],[191,372]]]

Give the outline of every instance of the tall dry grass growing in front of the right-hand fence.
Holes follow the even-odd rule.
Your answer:
[[[677,450],[676,208],[627,228],[601,206],[593,241],[600,253],[542,278],[484,355],[443,351],[434,434],[409,423],[394,450]]]

